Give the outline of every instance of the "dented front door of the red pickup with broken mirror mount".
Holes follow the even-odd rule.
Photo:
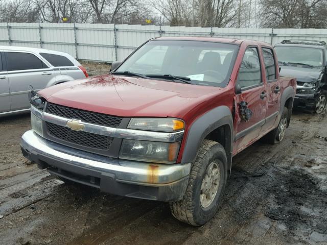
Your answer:
[[[235,139],[237,154],[259,137],[267,112],[266,84],[262,77],[261,59],[256,46],[246,49],[238,74],[237,85],[242,91],[235,95]],[[246,102],[252,113],[248,120],[242,117],[240,103]]]

